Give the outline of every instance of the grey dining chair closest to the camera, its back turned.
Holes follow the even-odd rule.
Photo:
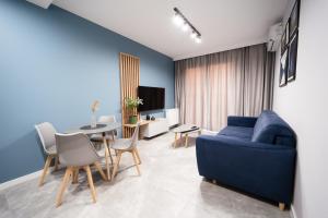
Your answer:
[[[56,133],[56,146],[61,165],[67,167],[59,192],[56,198],[56,206],[62,203],[63,192],[72,178],[73,183],[79,180],[79,170],[84,169],[87,177],[89,186],[93,203],[96,202],[96,191],[93,184],[90,166],[94,165],[101,173],[103,180],[107,180],[102,167],[101,157],[95,150],[89,137],[83,133],[59,134]]]

